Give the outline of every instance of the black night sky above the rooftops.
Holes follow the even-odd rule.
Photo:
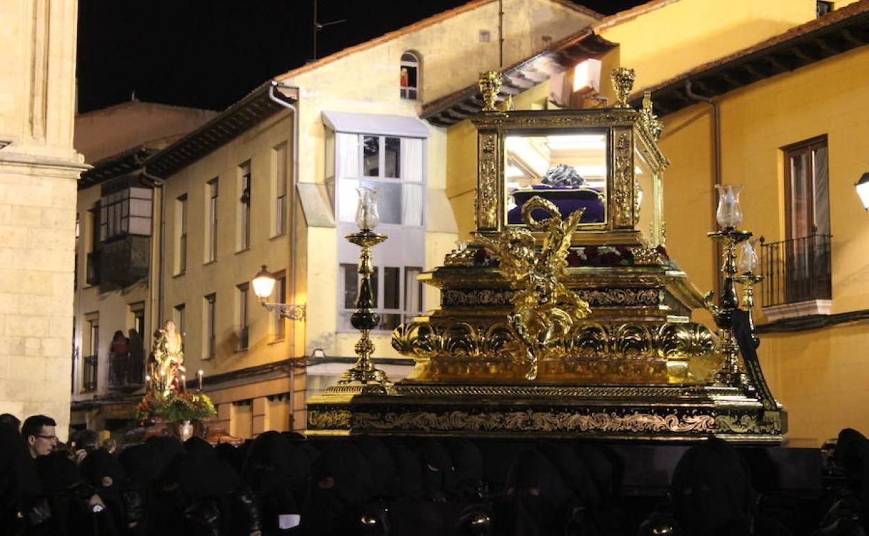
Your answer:
[[[317,57],[467,0],[319,0]],[[580,2],[604,15],[642,0]],[[140,100],[225,109],[313,57],[314,0],[79,0],[79,111]],[[505,17],[509,17],[509,13]]]

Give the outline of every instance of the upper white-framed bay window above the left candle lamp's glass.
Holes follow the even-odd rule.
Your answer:
[[[355,134],[338,134],[337,138],[341,173],[338,219],[355,222],[356,189],[364,186],[378,191],[381,224],[421,227],[423,141]]]

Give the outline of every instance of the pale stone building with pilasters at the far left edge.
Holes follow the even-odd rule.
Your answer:
[[[0,4],[0,412],[66,437],[76,179],[76,0]]]

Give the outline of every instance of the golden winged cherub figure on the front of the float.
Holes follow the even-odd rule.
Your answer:
[[[538,222],[531,215],[534,209],[551,215]],[[527,380],[537,378],[538,363],[558,352],[560,342],[571,333],[574,321],[585,318],[588,302],[564,286],[560,280],[567,275],[567,252],[570,237],[580,222],[584,208],[561,220],[554,203],[535,195],[522,205],[522,220],[527,228],[510,228],[497,240],[480,236],[483,246],[494,253],[501,263],[501,274],[515,290],[514,311],[507,315],[521,348],[516,357],[527,364]],[[532,231],[545,233],[541,251],[534,248]]]

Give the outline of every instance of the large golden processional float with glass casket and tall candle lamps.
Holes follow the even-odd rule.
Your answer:
[[[362,248],[359,360],[308,401],[308,433],[781,441],[738,187],[720,188],[722,230],[709,233],[723,252],[716,300],[667,256],[662,123],[648,94],[627,104],[632,69],[612,78],[614,108],[513,111],[495,108],[501,75],[481,76],[474,240],[421,275],[441,307],[395,329],[415,360],[395,383],[370,358],[370,249],[386,236],[361,202],[348,235]],[[715,331],[690,320],[698,308]]]

